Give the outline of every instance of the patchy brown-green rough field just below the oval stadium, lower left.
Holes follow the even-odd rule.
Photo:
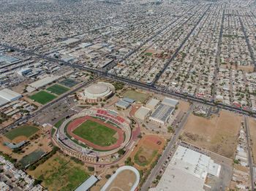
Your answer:
[[[61,191],[75,190],[89,178],[85,166],[75,163],[70,157],[65,157],[59,152],[28,173],[34,178],[42,180],[42,186],[54,191],[57,189]]]

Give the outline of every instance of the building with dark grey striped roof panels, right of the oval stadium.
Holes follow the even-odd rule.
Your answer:
[[[156,110],[151,114],[149,120],[152,122],[159,123],[160,125],[165,125],[165,122],[169,119],[170,115],[173,113],[174,107],[167,106],[165,104],[159,104]]]

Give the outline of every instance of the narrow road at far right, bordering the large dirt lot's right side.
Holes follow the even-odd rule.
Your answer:
[[[252,190],[255,190],[255,184],[254,184],[254,171],[253,171],[253,160],[252,160],[252,153],[251,153],[251,141],[250,141],[250,133],[249,133],[249,126],[247,117],[244,116],[244,127],[246,131],[246,141],[248,145],[248,165],[249,165],[249,172],[250,172],[250,178],[251,178],[251,184],[252,184]]]

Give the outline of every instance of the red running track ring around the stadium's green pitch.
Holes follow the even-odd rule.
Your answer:
[[[102,147],[102,146],[94,144],[91,141],[83,139],[80,136],[77,136],[74,133],[72,133],[73,130],[75,130],[75,128],[78,128],[86,120],[91,120],[91,121],[97,122],[101,125],[105,125],[106,127],[111,128],[113,130],[116,130],[116,132],[118,133],[118,140],[116,141],[116,143],[112,144],[110,146],[107,146],[107,147]],[[67,133],[69,133],[69,135],[74,137],[75,139],[77,139],[77,140],[83,142],[84,144],[88,145],[89,147],[92,147],[94,149],[103,150],[103,151],[104,150],[107,151],[107,150],[117,149],[124,142],[124,131],[123,130],[121,130],[120,128],[116,128],[115,126],[110,125],[108,123],[105,123],[102,120],[98,120],[98,119],[96,119],[94,117],[90,117],[90,116],[80,117],[80,118],[75,119],[72,122],[70,122],[69,125],[67,126]]]

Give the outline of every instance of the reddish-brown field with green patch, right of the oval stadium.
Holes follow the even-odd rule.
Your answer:
[[[159,136],[143,136],[131,155],[136,168],[144,168],[151,165],[157,154],[162,151],[164,144],[165,140]]]

